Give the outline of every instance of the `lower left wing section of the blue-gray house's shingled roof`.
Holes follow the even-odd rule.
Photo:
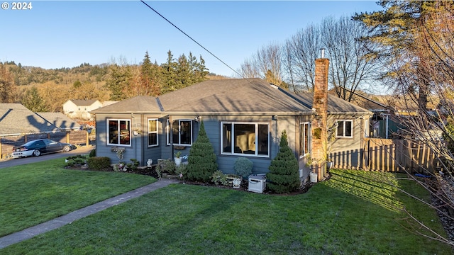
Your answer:
[[[160,113],[162,112],[153,96],[135,96],[118,103],[112,103],[90,113]]]

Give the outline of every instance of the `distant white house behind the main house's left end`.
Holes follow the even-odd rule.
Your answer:
[[[90,120],[92,115],[89,112],[102,106],[102,103],[95,99],[72,99],[63,103],[63,113],[70,118]]]

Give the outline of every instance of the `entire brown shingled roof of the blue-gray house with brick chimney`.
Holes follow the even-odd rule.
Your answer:
[[[313,98],[313,93],[292,94],[263,79],[221,79],[202,81],[157,98],[136,96],[91,113],[304,115],[313,114]],[[328,113],[370,112],[328,96]]]

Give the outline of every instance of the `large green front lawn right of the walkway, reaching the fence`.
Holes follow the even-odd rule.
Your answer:
[[[331,171],[307,193],[274,196],[175,184],[2,249],[2,254],[452,254],[409,231],[403,206],[443,231],[395,174]]]

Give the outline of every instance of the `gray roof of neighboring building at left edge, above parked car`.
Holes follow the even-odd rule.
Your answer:
[[[57,128],[20,103],[0,103],[0,136],[54,132]]]

